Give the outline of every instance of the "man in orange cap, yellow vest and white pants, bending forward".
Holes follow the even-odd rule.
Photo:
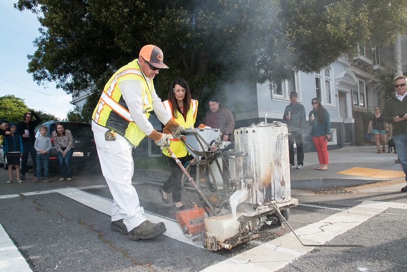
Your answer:
[[[154,89],[159,69],[168,68],[155,45],[143,46],[139,58],[120,68],[107,81],[92,115],[92,130],[103,176],[113,196],[110,229],[130,240],[151,239],[166,231],[164,223],[151,223],[143,215],[137,192],[131,184],[134,172],[133,146],[146,137],[158,146],[179,137],[182,126],[173,121]],[[153,111],[171,130],[157,132],[148,118]]]

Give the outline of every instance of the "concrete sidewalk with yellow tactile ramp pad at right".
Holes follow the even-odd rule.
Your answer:
[[[316,152],[305,153],[304,168],[290,170],[293,189],[348,187],[385,180],[404,180],[397,154],[376,153],[375,146],[352,146],[329,150],[327,171],[319,166]],[[296,155],[297,158],[297,155]],[[340,173],[342,172],[342,173]]]

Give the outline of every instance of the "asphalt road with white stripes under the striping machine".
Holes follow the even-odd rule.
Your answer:
[[[164,221],[167,232],[131,241],[110,230],[112,200],[103,176],[81,169],[70,182],[57,181],[55,172],[50,178],[34,183],[28,172],[22,184],[6,184],[7,171],[0,170],[0,270],[407,271],[403,180],[345,194],[293,190],[300,205],[290,210],[289,224],[304,243],[362,247],[302,247],[289,228],[273,225],[257,239],[211,252],[181,234],[173,204],[161,202],[163,180],[139,176],[134,186],[149,220]]]

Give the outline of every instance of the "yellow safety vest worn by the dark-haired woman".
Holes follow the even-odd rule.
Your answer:
[[[184,116],[181,113],[177,114],[177,118],[172,116],[172,105],[171,102],[165,100],[162,102],[164,104],[165,110],[171,115],[171,118],[175,120],[178,124],[182,125],[185,128],[189,128],[189,126],[193,126],[196,120],[196,113],[198,112],[198,101],[195,99],[191,99],[191,107],[187,113],[187,120],[184,120]],[[185,144],[181,142],[180,139],[170,139],[169,148],[177,157],[185,157],[188,154],[187,148]],[[168,157],[171,155],[168,153],[166,148],[162,149],[162,153]]]

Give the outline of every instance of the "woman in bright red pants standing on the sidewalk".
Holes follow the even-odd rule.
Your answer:
[[[329,113],[321,105],[321,100],[314,98],[311,101],[312,111],[309,112],[309,125],[311,126],[312,142],[315,145],[319,167],[316,170],[328,170],[328,140],[331,138],[331,121]]]

